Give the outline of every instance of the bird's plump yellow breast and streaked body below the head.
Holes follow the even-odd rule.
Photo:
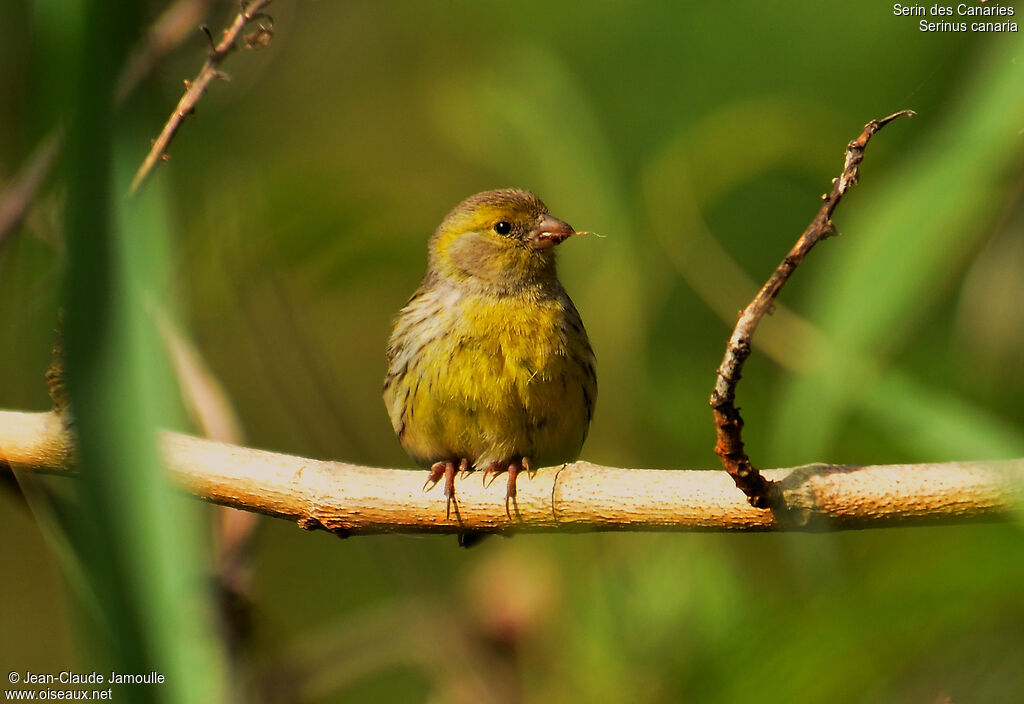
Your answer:
[[[392,420],[423,459],[535,454],[570,459],[587,433],[596,393],[593,353],[579,315],[560,296],[494,297],[432,292],[403,311],[416,335],[408,373],[391,393]],[[397,357],[392,365],[404,366]],[[400,416],[400,417],[399,417]]]

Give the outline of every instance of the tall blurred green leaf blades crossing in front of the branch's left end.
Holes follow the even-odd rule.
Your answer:
[[[68,29],[72,51],[60,67],[75,77],[60,356],[80,478],[52,510],[38,488],[28,495],[49,516],[44,535],[89,608],[82,663],[50,671],[95,669],[106,684],[112,672],[156,671],[165,684],[115,685],[114,696],[216,702],[224,675],[201,577],[199,514],[167,485],[156,447],[158,423],[168,417],[167,369],[144,304],[165,278],[167,218],[159,197],[125,204],[115,194],[127,181],[115,180],[113,87],[135,28],[128,13],[106,16],[98,2],[82,15]],[[16,669],[39,671],[23,662]]]

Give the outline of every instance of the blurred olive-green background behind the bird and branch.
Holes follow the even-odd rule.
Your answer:
[[[189,28],[214,36],[237,11],[196,4]],[[165,6],[143,3],[127,44]],[[124,174],[197,73],[201,33],[159,57],[112,136],[111,207],[137,211],[117,216],[122,264],[155,267],[137,264],[144,293],[115,287],[115,300],[162,301],[248,444],[410,466],[380,400],[392,316],[443,215],[517,185],[604,235],[560,249],[598,358],[584,458],[717,468],[707,399],[735,311],[810,221],[846,143],[909,107],[916,119],[871,142],[836,216],[841,236],[759,332],[739,387],[748,449],[761,467],[1024,454],[1020,33],[923,33],[883,2],[278,0],[268,11],[272,41],[228,58],[230,82],[213,84],[141,205],[124,205]],[[67,71],[79,14],[57,0],[0,4],[0,187],[82,93]],[[57,309],[76,291],[62,281],[82,251],[66,244],[74,163],[0,241],[3,408],[49,404]],[[174,388],[160,364],[132,368]],[[135,396],[174,399],[154,411],[161,423],[197,431],[173,391]],[[0,492],[0,670],[94,657],[83,613],[104,588],[90,572],[103,548],[74,544],[62,502],[90,504],[57,498],[61,481],[35,487],[31,507],[13,484]],[[195,555],[210,553],[213,516],[188,503],[184,547],[158,574],[213,570]],[[529,535],[464,551],[451,536],[339,540],[260,519],[233,664],[206,666],[230,668],[236,701],[1019,702],[1022,537],[1017,522]],[[171,549],[161,545],[131,549]]]

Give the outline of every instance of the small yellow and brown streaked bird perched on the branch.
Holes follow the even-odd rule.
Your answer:
[[[516,479],[579,457],[594,415],[594,351],[555,266],[581,234],[532,192],[501,188],[460,203],[430,237],[423,282],[394,321],[384,403],[424,489],[456,473]],[[516,512],[518,508],[516,507]]]

